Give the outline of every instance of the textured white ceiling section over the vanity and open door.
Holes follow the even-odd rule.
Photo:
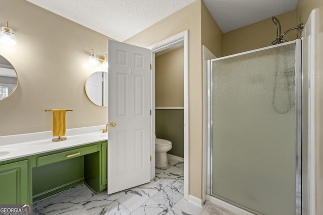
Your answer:
[[[118,41],[124,41],[195,0],[27,0]]]

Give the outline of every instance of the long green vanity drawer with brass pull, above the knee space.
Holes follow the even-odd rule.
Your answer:
[[[97,152],[97,146],[83,147],[37,158],[37,167]]]

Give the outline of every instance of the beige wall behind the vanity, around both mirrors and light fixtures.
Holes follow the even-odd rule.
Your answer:
[[[48,131],[51,113],[67,108],[67,128],[103,125],[107,108],[89,101],[84,92],[87,78],[101,68],[83,65],[90,49],[107,52],[108,37],[48,12],[27,1],[2,1],[0,24],[9,22],[17,45],[0,55],[15,67],[19,85],[0,101],[0,135]]]

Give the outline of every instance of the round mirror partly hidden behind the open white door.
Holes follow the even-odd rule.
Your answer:
[[[85,83],[87,98],[98,106],[107,106],[107,73],[97,71],[90,75]]]

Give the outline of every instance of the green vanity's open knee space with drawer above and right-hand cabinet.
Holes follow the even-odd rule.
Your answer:
[[[32,156],[33,200],[84,183],[95,194],[106,189],[107,140]],[[105,167],[103,167],[105,165]]]

